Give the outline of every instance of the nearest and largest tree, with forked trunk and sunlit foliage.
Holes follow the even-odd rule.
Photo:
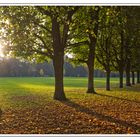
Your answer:
[[[54,99],[57,100],[66,99],[63,86],[64,54],[72,17],[79,8],[14,6],[1,9],[8,52],[30,60],[53,60]]]

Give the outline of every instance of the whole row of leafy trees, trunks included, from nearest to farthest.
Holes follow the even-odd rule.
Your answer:
[[[5,52],[29,60],[52,59],[55,74],[54,99],[65,100],[63,65],[70,61],[88,68],[88,93],[95,93],[94,68],[120,73],[120,88],[126,71],[139,82],[140,41],[139,7],[117,6],[27,6],[1,7],[1,39]]]

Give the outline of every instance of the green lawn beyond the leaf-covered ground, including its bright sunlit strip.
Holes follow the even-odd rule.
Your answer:
[[[79,91],[86,93],[87,78],[64,78],[65,92],[68,98],[83,98],[85,94],[79,94]],[[111,87],[118,86],[118,78],[111,78]],[[106,92],[105,78],[95,78],[95,87],[98,92]],[[100,90],[99,90],[100,89]],[[21,77],[21,78],[0,78],[0,105],[8,107],[11,105],[28,106],[23,100],[15,102],[15,96],[38,95],[45,96],[47,100],[52,100],[54,92],[53,77]],[[18,104],[19,103],[19,104]]]

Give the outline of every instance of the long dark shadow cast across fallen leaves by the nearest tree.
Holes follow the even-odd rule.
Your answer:
[[[91,115],[91,116],[94,116],[96,118],[99,118],[99,119],[101,119],[103,121],[108,121],[108,122],[116,123],[116,124],[119,124],[119,125],[122,125],[122,126],[125,126],[125,127],[130,127],[135,131],[140,128],[140,125],[132,124],[132,123],[129,123],[129,122],[126,122],[126,121],[123,121],[123,120],[118,120],[118,119],[112,118],[111,116],[107,116],[107,115],[98,113],[96,111],[92,111],[89,108],[84,107],[82,105],[79,105],[79,104],[77,104],[77,103],[75,103],[75,102],[73,102],[71,100],[62,101],[62,103],[67,105],[67,106],[75,108],[76,111],[86,113],[88,115]]]

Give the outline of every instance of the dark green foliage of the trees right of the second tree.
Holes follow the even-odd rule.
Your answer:
[[[130,13],[130,11],[133,12]],[[102,8],[96,56],[104,69],[109,65],[113,71],[118,71],[121,67],[124,70],[125,62],[128,59],[133,68],[136,66],[135,62],[139,59],[135,57],[138,56],[136,50],[137,53],[139,52],[139,48],[135,45],[136,38],[139,37],[138,11],[139,7]],[[109,38],[110,43],[106,46],[107,38]]]

